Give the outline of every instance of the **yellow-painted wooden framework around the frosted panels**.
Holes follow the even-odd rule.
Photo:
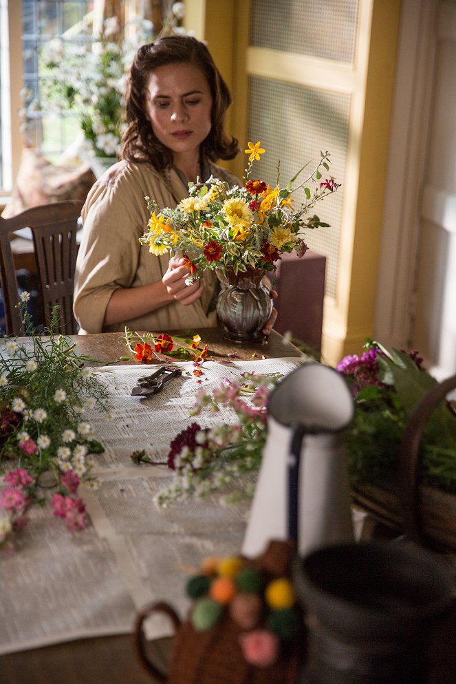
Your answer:
[[[221,6],[219,0],[186,0],[186,8],[187,28],[208,42],[232,89],[235,104],[227,129],[242,145],[248,128],[251,57],[254,68],[268,74],[281,53],[248,47],[248,1],[225,0]],[[345,354],[360,353],[366,337],[373,336],[399,19],[400,0],[359,0],[354,65],[323,65],[321,72],[327,87],[340,87],[351,96],[337,295],[325,298],[323,320],[322,354],[332,365]],[[287,65],[296,60],[296,74],[310,73],[303,69],[305,58],[301,56],[284,54],[283,60]],[[240,176],[241,157],[230,164]]]

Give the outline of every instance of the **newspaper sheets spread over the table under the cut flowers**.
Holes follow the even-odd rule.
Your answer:
[[[98,490],[81,487],[91,519],[70,534],[52,515],[50,496],[34,506],[17,552],[0,555],[0,654],[100,634],[131,632],[135,613],[164,600],[184,617],[184,586],[204,557],[239,553],[248,504],[229,506],[221,496],[158,509],[154,495],[173,480],[163,463],[171,440],[195,418],[189,409],[199,387],[210,390],[242,372],[289,373],[300,359],[204,363],[197,383],[191,363],[160,394],[131,396],[138,377],[155,367],[94,369],[109,386],[109,415],[94,411],[90,423],[105,446],[97,456]],[[235,420],[228,410],[202,412],[203,427]],[[159,465],[131,460],[145,449]],[[171,634],[155,620],[148,636]]]

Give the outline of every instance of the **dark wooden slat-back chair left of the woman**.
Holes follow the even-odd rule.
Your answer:
[[[69,200],[35,206],[9,219],[0,217],[0,285],[5,308],[6,332],[24,333],[19,301],[12,233],[21,228],[32,231],[39,296],[42,299],[45,325],[49,325],[52,307],[60,306],[61,331],[76,334],[73,315],[73,281],[78,244],[76,231],[83,202]]]

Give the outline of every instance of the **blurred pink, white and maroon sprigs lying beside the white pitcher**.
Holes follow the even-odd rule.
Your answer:
[[[172,441],[168,465],[175,481],[158,493],[158,506],[168,506],[191,496],[204,498],[215,491],[227,493],[228,502],[249,497],[254,483],[250,479],[261,462],[267,436],[266,401],[279,374],[239,374],[239,378],[213,389],[197,392],[191,416],[205,411],[212,414],[224,408],[226,423],[202,427],[194,421]],[[234,493],[232,486],[242,478],[243,486]]]

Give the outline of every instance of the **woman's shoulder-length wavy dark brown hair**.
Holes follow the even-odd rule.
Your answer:
[[[155,43],[142,45],[135,54],[127,81],[127,129],[122,136],[122,156],[129,162],[151,162],[162,171],[173,164],[173,153],[162,145],[144,113],[149,76],[157,67],[175,63],[191,63],[202,70],[213,98],[212,127],[201,144],[205,158],[232,159],[239,151],[236,138],[224,133],[226,110],[231,94],[206,45],[191,36],[164,36]]]

